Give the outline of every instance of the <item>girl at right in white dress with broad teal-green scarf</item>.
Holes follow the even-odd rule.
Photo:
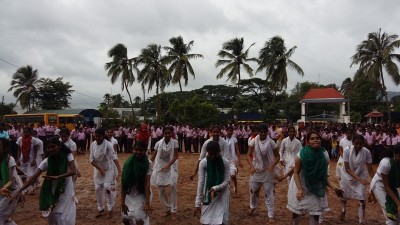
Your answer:
[[[328,207],[327,186],[341,195],[341,190],[328,179],[329,155],[321,147],[319,133],[308,133],[307,143],[295,159],[294,174],[289,184],[287,208],[292,212],[293,225],[298,225],[299,215],[307,212],[310,214],[310,225],[318,223],[319,216]]]

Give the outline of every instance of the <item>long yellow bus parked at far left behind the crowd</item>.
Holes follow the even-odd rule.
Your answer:
[[[58,114],[56,113],[9,114],[4,116],[3,122],[17,125],[34,124],[34,128],[37,128],[41,122],[45,125],[59,126]]]

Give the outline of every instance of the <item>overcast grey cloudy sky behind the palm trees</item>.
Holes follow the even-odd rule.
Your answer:
[[[214,66],[225,41],[255,42],[250,56],[256,57],[274,35],[287,48],[297,46],[292,60],[305,72],[289,72],[288,91],[304,81],[340,85],[353,77],[350,57],[368,33],[400,34],[399,12],[396,0],[0,0],[0,97],[14,102],[7,92],[12,74],[32,65],[40,77],[62,76],[73,85],[73,108],[96,108],[105,93],[121,93],[104,70],[110,48],[123,43],[135,57],[148,44],[167,46],[178,35],[194,40],[192,53],[204,55],[192,62],[196,77],[184,90],[225,83],[215,78]],[[137,83],[130,90],[133,98],[143,95]]]

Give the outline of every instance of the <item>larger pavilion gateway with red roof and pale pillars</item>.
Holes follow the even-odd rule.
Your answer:
[[[345,98],[335,88],[311,88],[300,100],[301,122],[306,122],[306,104],[337,103],[339,105],[339,123],[349,123],[350,115],[346,112],[346,103],[349,99]]]

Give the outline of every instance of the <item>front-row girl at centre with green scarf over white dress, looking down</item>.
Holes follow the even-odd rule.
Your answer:
[[[199,164],[194,215],[201,215],[201,224],[229,225],[229,161],[221,157],[218,142],[208,142],[207,153]]]

